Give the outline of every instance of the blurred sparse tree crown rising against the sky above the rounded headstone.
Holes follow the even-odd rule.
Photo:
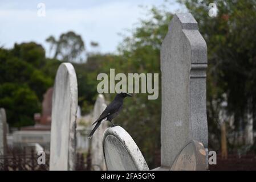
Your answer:
[[[55,49],[54,59],[69,62],[81,62],[84,59],[85,46],[83,39],[75,32],[69,31],[60,35],[59,40],[49,36],[46,42],[50,43],[50,51]]]

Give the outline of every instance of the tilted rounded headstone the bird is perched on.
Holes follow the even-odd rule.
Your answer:
[[[103,135],[104,157],[109,171],[148,171],[132,137],[120,126],[109,127]]]

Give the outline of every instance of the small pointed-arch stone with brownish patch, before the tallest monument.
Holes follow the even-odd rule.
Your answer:
[[[203,171],[206,170],[206,151],[201,142],[190,141],[176,156],[170,170],[174,171]]]

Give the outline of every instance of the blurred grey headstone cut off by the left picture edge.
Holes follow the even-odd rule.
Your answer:
[[[0,155],[5,155],[7,152],[7,123],[5,109],[0,108]],[[1,163],[2,161],[0,161]]]

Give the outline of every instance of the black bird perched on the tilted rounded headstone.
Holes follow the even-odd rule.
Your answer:
[[[100,126],[100,123],[101,121],[103,121],[103,119],[107,118],[107,121],[111,122],[112,119],[119,114],[120,110],[123,107],[125,97],[132,97],[132,95],[128,93],[123,93],[123,92],[116,95],[114,100],[106,107],[103,113],[100,114],[99,119],[97,119],[97,121],[95,121],[92,124],[94,125],[96,123],[94,129],[92,129],[92,132],[90,133],[88,138],[92,138],[92,135],[94,134],[96,129]],[[112,126],[115,126],[115,125],[112,123]]]

